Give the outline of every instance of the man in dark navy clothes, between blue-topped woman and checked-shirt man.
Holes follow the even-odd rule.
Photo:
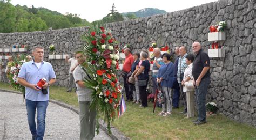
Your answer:
[[[178,64],[179,64],[179,47],[175,47],[175,55],[176,59],[174,59],[174,70],[173,70],[173,97],[172,97],[172,106],[173,108],[179,108],[179,83],[177,81],[177,72],[178,72]],[[174,58],[174,57],[173,57]]]

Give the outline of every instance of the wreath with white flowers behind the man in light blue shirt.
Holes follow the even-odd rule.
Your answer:
[[[22,64],[26,61],[25,55],[17,55],[13,56],[14,61],[10,63],[10,72],[8,73],[8,79],[10,80],[10,84],[14,87],[15,90],[21,92],[23,94],[23,98],[25,98],[25,86],[20,85],[18,83],[18,73],[21,70]]]

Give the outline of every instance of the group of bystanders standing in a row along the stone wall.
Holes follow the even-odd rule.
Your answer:
[[[159,48],[153,49],[154,61],[152,67],[153,94],[159,90],[163,95],[161,116],[172,114],[173,108],[179,108],[183,100],[184,110],[180,114],[186,118],[195,116],[195,105],[198,118],[194,124],[206,123],[205,99],[207,87],[210,84],[210,58],[201,48],[199,42],[192,44],[193,54],[187,54],[184,46],[175,48],[175,55],[161,54]],[[147,50],[132,53],[131,48],[124,49],[122,77],[126,101],[139,104],[140,108],[147,107],[147,84],[149,82],[150,58]],[[171,57],[175,58],[174,63]],[[128,79],[134,77],[135,82]],[[196,94],[195,94],[196,93]],[[194,100],[194,97],[196,100]]]

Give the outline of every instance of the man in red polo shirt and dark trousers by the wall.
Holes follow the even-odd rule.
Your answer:
[[[127,73],[131,71],[132,64],[134,62],[133,56],[132,56],[132,50],[130,48],[125,48],[124,49],[124,55],[125,55],[125,60],[123,64],[123,71],[122,71],[122,77],[124,78],[124,89],[125,89],[125,94],[126,94],[126,101],[132,101],[132,91],[129,91],[129,84],[126,83],[126,76]]]

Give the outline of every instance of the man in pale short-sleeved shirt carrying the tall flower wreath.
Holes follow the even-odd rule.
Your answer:
[[[85,78],[88,78],[88,76],[84,71],[86,68],[82,66],[86,60],[82,51],[76,53],[76,59],[79,65],[73,72],[73,76],[77,86],[80,110],[80,139],[93,139],[95,137],[96,108],[89,109],[91,104],[91,90],[85,87],[83,81]]]

